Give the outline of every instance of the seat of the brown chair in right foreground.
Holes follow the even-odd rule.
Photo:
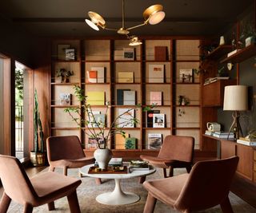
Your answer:
[[[150,191],[154,198],[174,207],[174,203],[189,176],[189,174],[183,174],[166,179],[154,179],[144,182],[143,186],[147,191]]]

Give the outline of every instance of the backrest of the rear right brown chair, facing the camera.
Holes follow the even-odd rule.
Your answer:
[[[166,136],[158,157],[192,162],[194,157],[194,137]]]

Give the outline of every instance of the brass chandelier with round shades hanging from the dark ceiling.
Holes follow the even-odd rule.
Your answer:
[[[130,36],[130,30],[137,28],[139,26],[145,26],[148,23],[150,25],[156,25],[159,22],[162,22],[162,19],[165,18],[165,12],[162,11],[162,5],[153,5],[148,7],[146,10],[143,12],[143,18],[144,22],[142,24],[139,24],[138,26],[131,26],[126,28],[125,26],[125,2],[122,0],[122,27],[119,29],[112,29],[106,27],[106,22],[104,18],[100,14],[97,14],[93,11],[89,11],[88,15],[90,19],[86,18],[86,23],[93,28],[94,30],[99,30],[102,28],[102,30],[114,30],[117,31],[118,34],[123,34],[126,35],[128,39],[130,39],[130,44],[129,45],[141,45],[142,41],[138,40],[138,37],[135,35]],[[100,27],[100,28],[99,28]]]

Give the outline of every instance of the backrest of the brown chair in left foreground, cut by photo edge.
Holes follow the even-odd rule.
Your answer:
[[[11,199],[18,203],[38,198],[30,179],[19,160],[12,156],[0,155],[0,178],[2,186]]]

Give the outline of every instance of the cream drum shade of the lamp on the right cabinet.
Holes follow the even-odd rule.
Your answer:
[[[225,87],[223,110],[245,111],[248,109],[248,91],[245,85]]]

